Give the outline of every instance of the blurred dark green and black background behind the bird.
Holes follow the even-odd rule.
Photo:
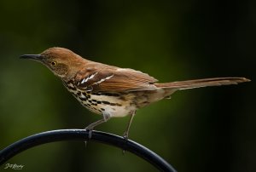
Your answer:
[[[178,171],[256,171],[256,1],[0,1],[0,149],[51,129],[101,118],[39,63],[20,60],[60,46],[161,82],[248,77],[251,83],[178,92],[137,112],[130,139]],[[116,135],[128,118],[96,128]],[[67,141],[8,163],[22,171],[157,171],[129,152]],[[0,171],[4,166],[0,167]]]

